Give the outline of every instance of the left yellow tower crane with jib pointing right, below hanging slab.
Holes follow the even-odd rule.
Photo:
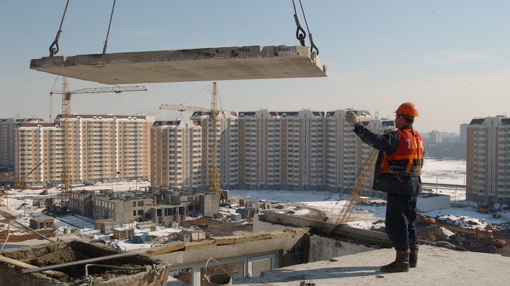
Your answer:
[[[80,93],[123,93],[125,91],[147,91],[143,85],[115,86],[111,88],[83,88],[80,90],[69,90],[67,76],[62,76],[62,115],[60,117],[60,128],[62,130],[62,175],[60,176],[61,189],[57,195],[57,203],[62,208],[67,208],[69,195],[72,191],[72,130],[71,130],[71,95]],[[53,92],[50,95],[54,94]]]

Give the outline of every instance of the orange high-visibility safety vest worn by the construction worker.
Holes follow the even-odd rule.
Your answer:
[[[417,177],[421,174],[421,160],[424,154],[424,140],[414,129],[397,130],[400,142],[395,153],[384,153],[379,174],[390,173]]]

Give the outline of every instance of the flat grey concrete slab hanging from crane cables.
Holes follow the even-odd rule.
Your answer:
[[[250,46],[47,56],[30,68],[108,85],[327,76],[310,47]]]

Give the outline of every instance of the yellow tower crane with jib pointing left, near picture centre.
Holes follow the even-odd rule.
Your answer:
[[[216,83],[212,83],[212,98],[211,98],[211,107],[207,109],[205,107],[194,107],[188,105],[169,105],[163,104],[159,107],[159,109],[171,109],[171,110],[179,110],[183,111],[193,111],[193,112],[208,112],[209,121],[208,121],[208,140],[209,140],[209,165],[208,165],[208,181],[209,181],[209,191],[211,193],[216,193],[222,198],[222,188],[220,184],[220,171],[218,169],[217,164],[217,114],[219,111],[217,109],[217,90]]]

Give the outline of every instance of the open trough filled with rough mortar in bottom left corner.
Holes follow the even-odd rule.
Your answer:
[[[74,240],[71,242],[49,243],[20,249],[0,251],[1,256],[15,259],[33,266],[55,269],[55,275],[22,273],[22,269],[8,263],[0,263],[1,285],[75,285],[85,282],[89,285],[164,285],[170,272],[170,265],[147,256],[134,255],[126,258],[101,260],[103,256],[120,254],[102,244],[91,244]],[[66,266],[91,258],[96,263]],[[97,266],[97,264],[107,266]],[[58,267],[57,267],[58,265]],[[115,267],[110,267],[115,266]],[[128,269],[129,268],[129,269]]]

